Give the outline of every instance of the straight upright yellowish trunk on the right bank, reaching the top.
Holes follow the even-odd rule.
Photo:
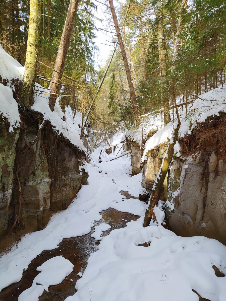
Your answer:
[[[164,33],[163,33],[163,20],[162,20],[162,4],[161,0],[157,1],[156,6],[156,18],[157,18],[157,26],[156,26],[156,35],[159,46],[159,75],[161,81],[161,102],[164,108],[164,124],[170,122],[170,113],[169,113],[169,100],[166,95],[166,53],[165,53],[165,45],[164,45]]]

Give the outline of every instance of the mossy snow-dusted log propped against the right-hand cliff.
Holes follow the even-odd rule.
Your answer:
[[[177,126],[174,129],[174,133],[169,142],[165,157],[162,162],[162,166],[159,169],[159,173],[158,173],[155,183],[153,185],[151,196],[150,196],[149,202],[148,202],[148,207],[146,209],[145,216],[144,216],[143,227],[147,227],[150,224],[151,219],[153,219],[153,221],[157,222],[155,213],[154,213],[154,206],[158,204],[160,192],[161,192],[161,189],[163,186],[163,182],[167,175],[170,163],[173,159],[174,145],[177,141],[178,131],[179,131],[179,126]]]

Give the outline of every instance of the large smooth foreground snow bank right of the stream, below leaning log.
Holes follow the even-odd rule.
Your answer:
[[[159,222],[164,212],[155,207]],[[226,277],[218,278],[212,265],[226,272],[226,247],[202,236],[179,237],[154,224],[143,228],[143,217],[111,231],[99,250],[90,255],[78,290],[65,301],[225,301]],[[138,246],[144,242],[149,247]]]

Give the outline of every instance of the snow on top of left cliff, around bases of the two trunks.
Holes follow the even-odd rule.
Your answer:
[[[2,79],[8,81],[7,86],[0,83],[0,114],[7,118],[11,127],[9,131],[13,131],[13,128],[19,127],[19,111],[18,104],[14,100],[12,90],[14,83],[12,79],[22,79],[24,73],[24,67],[20,65],[13,57],[11,57],[0,45],[0,76]],[[73,119],[74,113],[70,107],[66,107],[65,113],[61,110],[58,100],[55,104],[54,111],[49,108],[49,90],[43,88],[39,84],[35,84],[34,105],[32,109],[42,113],[44,120],[49,120],[53,129],[64,138],[70,141],[80,151],[86,151],[83,143],[80,139],[80,119],[78,117],[79,112]],[[11,89],[10,89],[11,88]]]

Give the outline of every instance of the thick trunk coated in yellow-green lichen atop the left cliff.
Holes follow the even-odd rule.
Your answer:
[[[40,44],[41,0],[30,0],[30,17],[27,36],[27,52],[24,69],[24,80],[21,101],[30,106],[33,104],[32,89],[35,82],[36,64]]]

